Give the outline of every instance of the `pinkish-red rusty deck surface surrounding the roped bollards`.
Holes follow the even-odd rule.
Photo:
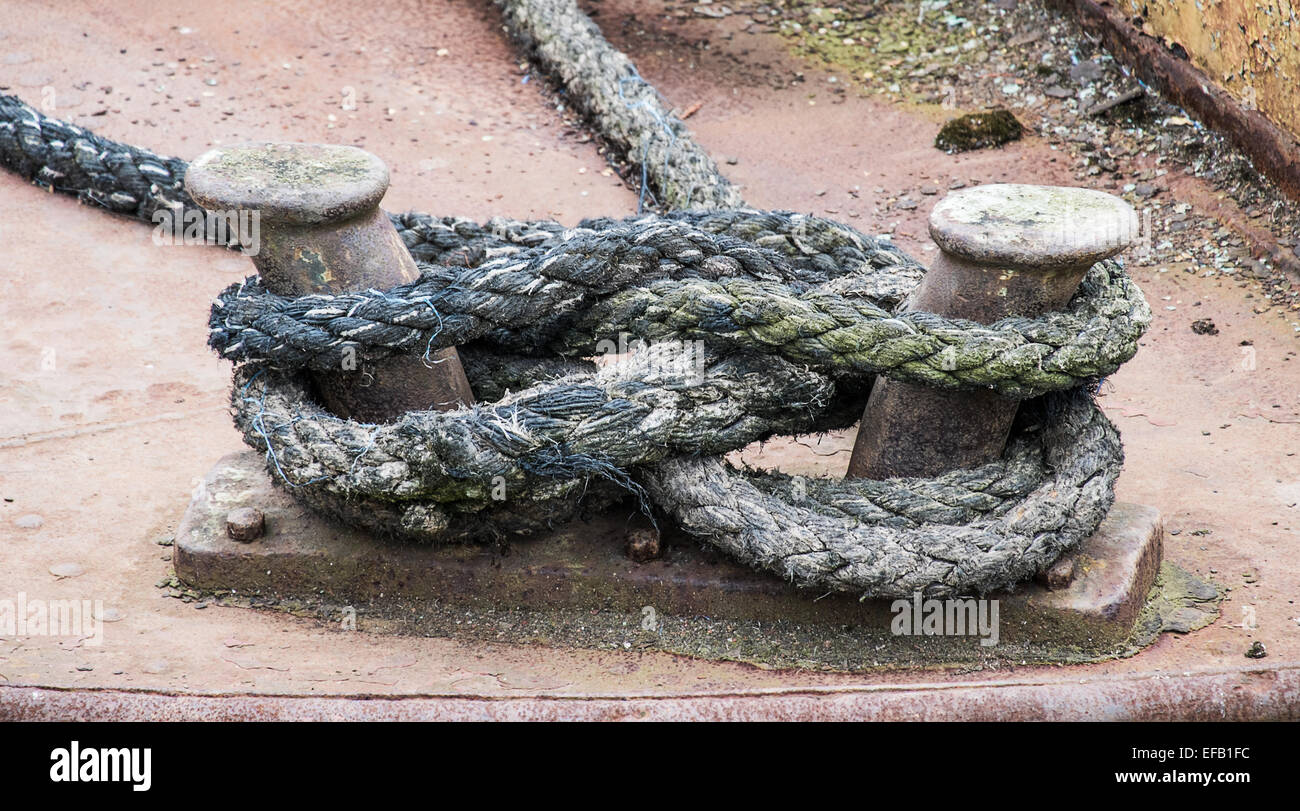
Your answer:
[[[38,105],[48,100],[51,114],[110,138],[187,159],[252,139],[361,146],[393,170],[385,199],[391,211],[573,224],[637,207],[636,191],[569,110],[558,109],[563,100],[520,62],[485,3],[325,9],[237,1],[220,14],[138,0],[112,8],[4,5],[0,88]],[[1236,668],[1251,662],[1244,654],[1256,641],[1268,651],[1256,664],[1300,663],[1300,328],[1286,295],[1300,282],[1260,265],[1258,251],[1252,256],[1261,242],[1271,239],[1266,253],[1295,244],[1295,235],[1252,217],[1240,194],[1178,161],[1161,161],[1165,173],[1154,174],[1157,155],[1117,159],[1131,161],[1135,178],[1152,173],[1126,191],[1126,177],[1089,174],[1080,164],[1084,144],[1041,135],[1036,118],[1023,140],[1005,148],[945,155],[932,142],[952,109],[888,87],[837,92],[844,70],[794,56],[806,49],[790,36],[751,17],[697,14],[692,5],[604,0],[586,8],[667,99],[697,109],[688,123],[754,205],[892,233],[928,261],[930,208],[959,185],[1083,185],[1124,194],[1136,192],[1138,182],[1158,187],[1138,198],[1153,213],[1152,252],[1130,259],[1154,324],[1139,355],[1105,382],[1101,403],[1126,442],[1118,496],[1165,515],[1166,559],[1226,593],[1218,623],[1102,664],[854,676],[764,671],[621,645],[551,650],[390,637],[364,625],[347,632],[173,599],[157,587],[172,574],[162,543],[207,469],[243,447],[226,413],[229,364],[207,350],[205,324],[213,295],[250,265],[214,248],[155,246],[147,225],[4,174],[0,599],[103,600],[108,623],[98,646],[0,638],[0,685],[520,697],[918,680],[1076,684]],[[1069,30],[1061,25],[1057,35],[1031,43],[1063,42]],[[974,69],[1000,71],[988,62]],[[1030,112],[1018,114],[1050,110]],[[1070,127],[1079,117],[1069,108],[1050,114],[1069,118]],[[1225,255],[1244,253],[1232,255],[1240,272],[1204,272],[1216,266],[1193,242],[1204,234]],[[746,456],[840,476],[850,447],[852,434],[772,442]]]

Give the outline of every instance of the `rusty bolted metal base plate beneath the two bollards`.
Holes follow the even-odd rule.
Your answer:
[[[237,507],[265,513],[260,539],[226,535],[225,516]],[[294,610],[315,604],[321,617],[347,606],[370,620],[372,630],[636,645],[776,667],[859,669],[1130,652],[1164,538],[1154,508],[1115,504],[1101,529],[1040,582],[988,595],[998,603],[997,645],[980,645],[991,634],[979,629],[953,634],[949,624],[940,626],[946,634],[924,633],[932,606],[919,613],[913,606],[922,623],[900,636],[892,625],[901,611],[890,600],[800,591],[671,532],[660,559],[633,563],[623,554],[630,517],[576,521],[507,547],[399,545],[309,512],[274,487],[261,457],[248,451],[208,473],[177,530],[174,564],[195,589]],[[516,633],[502,632],[506,626]]]

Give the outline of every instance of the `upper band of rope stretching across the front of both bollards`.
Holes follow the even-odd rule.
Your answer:
[[[783,216],[790,230],[822,227]],[[477,268],[429,268],[389,291],[291,300],[256,281],[234,285],[213,305],[209,342],[231,360],[337,369],[348,352],[373,360],[476,339],[590,354],[597,341],[630,331],[779,355],[833,376],[884,374],[1023,399],[1114,372],[1150,321],[1115,263],[1089,272],[1062,312],[984,326],[878,304],[915,283],[911,265],[855,261],[835,277],[685,220],[594,225],[607,230],[564,231]]]

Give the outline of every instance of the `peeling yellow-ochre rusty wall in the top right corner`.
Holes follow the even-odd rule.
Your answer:
[[[1248,108],[1300,136],[1300,0],[1122,0]]]

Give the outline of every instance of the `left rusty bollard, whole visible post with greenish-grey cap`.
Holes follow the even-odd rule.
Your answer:
[[[419,270],[380,200],[389,169],[374,155],[335,144],[252,143],[211,149],[190,164],[186,190],[209,212],[255,212],[252,263],[283,296],[386,290]],[[455,347],[315,374],[326,408],[386,422],[407,411],[473,404]]]

